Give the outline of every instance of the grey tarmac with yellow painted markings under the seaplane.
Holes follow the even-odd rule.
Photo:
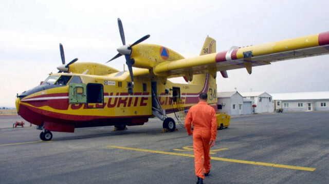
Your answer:
[[[175,119],[176,120],[176,119]],[[0,183],[195,183],[193,140],[186,130],[161,133],[162,121],[52,132],[12,128],[0,116]],[[204,183],[328,183],[329,112],[233,116],[218,130]]]

